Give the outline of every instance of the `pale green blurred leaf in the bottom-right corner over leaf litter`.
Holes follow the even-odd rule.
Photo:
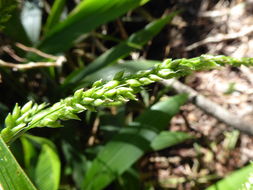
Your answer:
[[[252,174],[253,165],[250,164],[233,172],[229,176],[208,187],[206,190],[239,190]]]

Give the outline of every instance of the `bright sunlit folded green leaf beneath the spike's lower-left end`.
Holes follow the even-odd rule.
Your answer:
[[[57,190],[60,182],[60,159],[54,144],[42,137],[25,134],[21,138],[24,161],[29,176],[40,190]]]

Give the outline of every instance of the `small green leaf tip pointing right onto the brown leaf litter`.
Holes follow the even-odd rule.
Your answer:
[[[184,132],[162,131],[152,141],[151,147],[153,150],[157,151],[182,143],[191,138],[193,138],[191,135]]]

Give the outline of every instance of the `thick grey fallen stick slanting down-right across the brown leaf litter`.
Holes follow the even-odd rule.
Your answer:
[[[230,113],[228,110],[221,107],[219,104],[211,101],[210,99],[199,94],[189,86],[179,82],[178,80],[171,79],[163,82],[165,85],[172,86],[179,93],[189,94],[189,100],[199,107],[204,112],[214,116],[219,121],[238,129],[241,132],[253,135],[253,126],[251,123],[245,121],[243,118]]]

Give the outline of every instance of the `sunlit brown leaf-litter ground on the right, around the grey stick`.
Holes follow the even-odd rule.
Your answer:
[[[161,1],[160,3],[162,4]],[[159,4],[159,3],[158,3]],[[175,1],[167,11],[182,9],[163,36],[164,56],[196,57],[201,54],[252,57],[253,1]],[[162,36],[160,36],[162,38]],[[184,83],[248,122],[253,121],[253,70],[226,67],[199,72]],[[188,103],[170,126],[187,131],[197,141],[153,153],[141,164],[144,178],[158,179],[163,189],[204,189],[253,159],[253,137],[241,133]],[[144,172],[144,173],[145,173]]]

